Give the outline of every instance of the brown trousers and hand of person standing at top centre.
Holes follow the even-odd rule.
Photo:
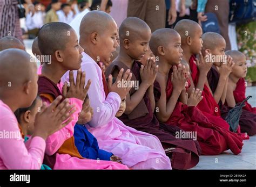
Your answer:
[[[169,0],[171,9],[168,12],[168,23],[172,25],[176,18],[176,1]],[[165,12],[166,6],[164,0],[129,0],[127,17],[138,17],[144,20],[149,25],[151,32],[156,31],[158,28],[165,28]]]

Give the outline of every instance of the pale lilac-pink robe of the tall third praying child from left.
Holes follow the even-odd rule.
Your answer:
[[[156,136],[128,127],[115,117],[121,99],[115,92],[106,97],[98,64],[83,53],[81,66],[86,72],[86,83],[92,80],[88,94],[93,118],[86,127],[97,138],[99,148],[121,157],[123,163],[133,169],[171,169],[170,159]],[[74,71],[75,77],[76,74]],[[62,81],[69,81],[69,72]]]

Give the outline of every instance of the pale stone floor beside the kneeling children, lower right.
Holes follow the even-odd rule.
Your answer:
[[[26,51],[32,55],[32,40],[24,40]],[[249,103],[256,106],[256,87],[248,87],[246,95],[253,96]],[[256,169],[256,135],[244,140],[242,152],[234,155],[230,150],[215,156],[200,156],[200,161],[192,169]]]

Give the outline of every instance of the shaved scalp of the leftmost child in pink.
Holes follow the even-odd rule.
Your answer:
[[[36,73],[36,63],[30,60],[31,56],[21,49],[5,49],[0,52],[0,92],[6,91],[8,83],[15,88],[31,80],[33,73]]]

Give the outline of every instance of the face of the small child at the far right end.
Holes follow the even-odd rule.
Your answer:
[[[233,58],[234,67],[232,69],[232,74],[235,77],[245,78],[247,74],[247,66],[246,66],[246,57],[245,55],[239,55]]]

